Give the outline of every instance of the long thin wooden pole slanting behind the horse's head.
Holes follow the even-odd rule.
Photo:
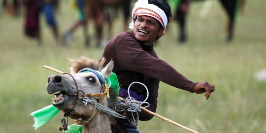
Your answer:
[[[55,71],[55,72],[57,72],[57,73],[60,73],[60,74],[64,73],[64,72],[62,72],[62,71],[60,71],[60,70],[58,70],[58,69],[55,69],[55,68],[53,68],[53,67],[50,67],[50,66],[43,66],[43,67],[46,68],[46,69],[49,69],[49,70]],[[122,100],[123,100],[123,98],[121,98],[121,97],[119,97],[119,99],[122,99]],[[188,127],[185,127],[185,126],[183,126],[183,125],[181,125],[181,124],[179,124],[179,123],[177,123],[177,122],[174,122],[174,121],[172,121],[172,120],[170,120],[170,119],[168,119],[168,118],[166,118],[166,117],[163,117],[163,116],[161,116],[161,115],[159,115],[159,114],[157,114],[157,113],[154,113],[154,112],[152,112],[152,111],[150,111],[150,110],[148,110],[148,109],[146,109],[146,108],[142,108],[141,110],[143,110],[143,111],[145,111],[145,112],[148,112],[149,114],[152,114],[152,115],[154,115],[154,116],[156,116],[156,117],[158,117],[158,118],[160,118],[160,119],[165,120],[166,122],[169,122],[169,123],[171,123],[171,124],[173,124],[173,125],[176,125],[176,126],[182,128],[182,129],[185,129],[185,130],[190,131],[190,132],[192,132],[192,133],[199,133],[199,132],[197,132],[197,131],[195,131],[195,130],[192,130],[192,129],[188,128]]]

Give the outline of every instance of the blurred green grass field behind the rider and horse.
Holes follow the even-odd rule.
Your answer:
[[[247,0],[236,22],[235,39],[225,43],[226,14],[215,0],[205,19],[199,18],[203,2],[193,2],[188,18],[189,41],[177,42],[176,22],[156,44],[158,56],[192,81],[215,85],[209,100],[165,83],[160,84],[157,113],[200,133],[266,133],[266,81],[254,73],[266,68],[266,0]],[[74,22],[68,0],[57,14],[60,32]],[[82,30],[73,34],[68,47],[56,45],[41,16],[43,46],[23,34],[23,16],[6,16],[0,8],[0,133],[59,133],[63,113],[34,130],[31,112],[51,104],[47,77],[57,74],[48,65],[69,72],[67,58],[81,55],[99,60],[102,48],[83,46]],[[122,32],[115,20],[113,35]],[[93,24],[89,26],[95,37]],[[105,27],[105,31],[106,27]],[[104,33],[107,36],[107,33]],[[73,121],[70,121],[72,124]],[[154,117],[139,122],[141,133],[190,133]]]

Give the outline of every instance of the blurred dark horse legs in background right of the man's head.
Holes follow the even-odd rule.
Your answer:
[[[175,18],[179,23],[180,34],[179,34],[179,42],[185,42],[187,40],[187,34],[185,30],[186,25],[186,16],[189,8],[189,3],[191,0],[176,0],[177,3],[177,10],[175,12]],[[199,1],[199,0],[193,0]],[[233,40],[233,33],[234,33],[234,24],[235,24],[235,16],[238,12],[238,9],[243,9],[244,0],[219,0],[224,7],[227,16],[229,18],[228,25],[227,25],[227,38],[226,41]],[[240,6],[240,7],[239,7]]]

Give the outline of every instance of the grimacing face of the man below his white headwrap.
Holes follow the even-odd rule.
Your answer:
[[[156,37],[163,35],[164,28],[153,17],[139,16],[134,23],[133,33],[136,40],[141,42],[141,44],[152,46]]]

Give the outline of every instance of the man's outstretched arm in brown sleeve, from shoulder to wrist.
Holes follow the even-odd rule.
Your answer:
[[[165,61],[150,55],[134,41],[124,41],[123,39],[119,43],[117,45],[117,62],[121,69],[137,71],[173,87],[193,92],[196,83],[187,79]]]

